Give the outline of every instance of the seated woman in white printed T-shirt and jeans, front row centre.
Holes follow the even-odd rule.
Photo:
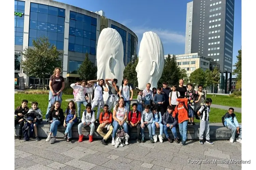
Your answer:
[[[124,106],[124,98],[120,97],[117,105],[113,109],[113,132],[112,132],[112,145],[115,145],[115,136],[116,132],[120,126],[123,126],[124,131],[126,133],[126,137],[128,137],[128,125],[126,123],[127,119],[127,110]],[[125,145],[129,145],[128,140],[125,140]]]

